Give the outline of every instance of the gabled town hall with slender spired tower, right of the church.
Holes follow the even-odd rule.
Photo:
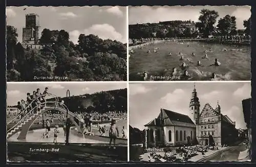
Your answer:
[[[196,88],[190,99],[190,113],[196,124],[197,143],[204,146],[229,145],[237,140],[238,130],[236,122],[227,115],[221,114],[221,106],[217,102],[216,107],[206,103],[200,110],[200,102]]]

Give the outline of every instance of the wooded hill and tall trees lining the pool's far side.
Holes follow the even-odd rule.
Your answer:
[[[140,38],[172,38],[172,37],[197,37],[203,35],[208,37],[237,35],[236,17],[226,15],[217,22],[219,14],[215,10],[202,9],[199,22],[189,21],[164,21],[146,24],[129,25],[129,37],[131,39]],[[217,23],[217,26],[215,26]],[[250,35],[250,18],[244,20],[245,33]]]

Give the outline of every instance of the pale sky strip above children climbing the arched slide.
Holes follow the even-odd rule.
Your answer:
[[[70,96],[93,94],[101,91],[125,89],[126,82],[12,82],[7,83],[7,105],[17,105],[17,102],[27,100],[27,93],[33,93],[37,88],[41,93],[48,87],[48,92],[58,97],[66,97],[67,90]],[[51,97],[50,97],[51,98]]]

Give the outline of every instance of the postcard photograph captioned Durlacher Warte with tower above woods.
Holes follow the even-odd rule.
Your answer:
[[[127,80],[126,7],[6,8],[7,81]]]

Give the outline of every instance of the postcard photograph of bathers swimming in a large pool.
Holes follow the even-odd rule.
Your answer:
[[[250,80],[250,10],[129,7],[129,80]]]

